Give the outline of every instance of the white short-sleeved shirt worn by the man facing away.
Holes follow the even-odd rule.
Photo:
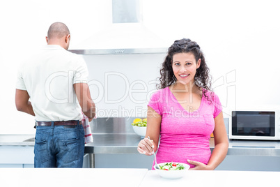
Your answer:
[[[81,120],[73,84],[87,83],[87,79],[82,57],[59,45],[46,45],[22,64],[16,89],[29,93],[36,121]]]

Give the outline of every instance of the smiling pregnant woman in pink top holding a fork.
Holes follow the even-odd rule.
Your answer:
[[[176,40],[160,75],[160,90],[148,104],[146,137],[137,150],[146,155],[157,151],[157,163],[187,163],[189,170],[215,170],[226,157],[228,137],[221,103],[210,89],[209,68],[199,45],[185,38]],[[215,137],[212,154],[211,133]]]

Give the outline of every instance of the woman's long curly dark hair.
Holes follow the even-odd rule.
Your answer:
[[[176,82],[176,77],[172,68],[172,59],[174,54],[181,52],[192,52],[196,59],[196,63],[199,61],[199,59],[201,59],[201,66],[199,66],[199,68],[196,70],[196,75],[194,76],[194,84],[196,84],[196,86],[203,91],[203,95],[208,98],[208,96],[206,96],[206,92],[210,91],[210,93],[212,93],[212,77],[209,74],[210,70],[205,62],[204,54],[201,51],[199,45],[196,42],[186,38],[175,40],[173,45],[169,47],[168,54],[166,55],[164,62],[162,63],[162,68],[160,69],[160,84],[157,84],[157,89],[164,89]]]

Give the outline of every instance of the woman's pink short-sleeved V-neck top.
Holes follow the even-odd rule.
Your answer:
[[[203,95],[199,109],[187,112],[169,87],[153,93],[148,106],[162,116],[157,163],[187,163],[189,159],[208,164],[210,135],[215,127],[214,119],[221,112],[221,103],[215,93],[206,94],[211,102]]]

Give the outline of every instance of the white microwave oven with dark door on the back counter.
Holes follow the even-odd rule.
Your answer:
[[[232,111],[228,136],[231,140],[280,140],[280,110]]]

